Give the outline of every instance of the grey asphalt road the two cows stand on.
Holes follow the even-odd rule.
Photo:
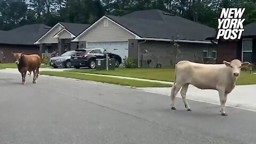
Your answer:
[[[0,72],[0,143],[256,143],[256,113],[130,87]]]

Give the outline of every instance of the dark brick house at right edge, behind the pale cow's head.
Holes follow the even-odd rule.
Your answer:
[[[206,39],[213,40],[214,36],[207,37]],[[239,41],[218,41],[217,63],[223,63],[223,60],[231,61],[234,59],[239,59],[242,62],[256,63],[256,22],[244,26],[244,32]]]

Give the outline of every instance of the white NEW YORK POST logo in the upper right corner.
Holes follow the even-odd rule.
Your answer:
[[[214,41],[238,41],[244,31],[242,19],[245,8],[223,8],[216,25]]]

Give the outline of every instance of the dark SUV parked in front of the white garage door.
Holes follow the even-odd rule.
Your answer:
[[[96,67],[96,59],[106,58],[105,49],[77,49],[76,54],[71,56],[71,65],[79,69],[81,67],[89,67],[94,69]],[[119,55],[108,53],[110,59],[116,60],[116,67],[119,67],[122,63],[122,59]]]

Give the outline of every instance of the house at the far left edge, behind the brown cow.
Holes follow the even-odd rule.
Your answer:
[[[49,26],[34,24],[0,31],[0,62],[14,62],[11,52],[39,54],[39,46],[34,42],[48,30]]]

